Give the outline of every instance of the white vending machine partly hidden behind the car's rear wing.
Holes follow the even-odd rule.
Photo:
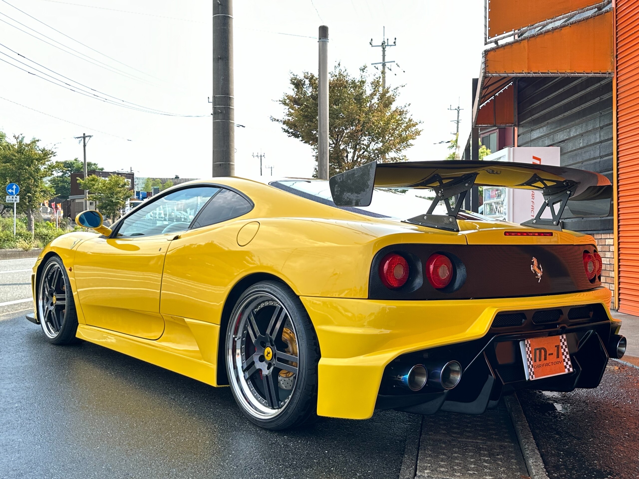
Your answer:
[[[484,156],[484,161],[559,166],[559,147],[509,146]],[[541,191],[484,186],[484,215],[497,220],[512,223],[531,220],[541,208],[543,201]],[[548,209],[542,216],[546,217],[551,218]]]

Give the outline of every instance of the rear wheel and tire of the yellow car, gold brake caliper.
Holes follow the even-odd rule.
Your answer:
[[[253,423],[281,430],[316,419],[319,343],[286,284],[268,280],[244,291],[224,344],[233,397]]]

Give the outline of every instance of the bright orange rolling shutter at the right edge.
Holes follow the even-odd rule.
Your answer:
[[[616,8],[619,310],[639,316],[639,8]]]

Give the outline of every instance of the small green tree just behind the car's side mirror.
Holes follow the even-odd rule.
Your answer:
[[[111,221],[119,218],[120,210],[132,195],[130,181],[118,174],[112,174],[109,178],[92,174],[87,179],[78,179],[78,184],[82,190],[89,190],[89,199],[95,201],[98,211]]]

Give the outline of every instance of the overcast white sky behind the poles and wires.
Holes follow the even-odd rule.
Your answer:
[[[56,149],[59,160],[82,158],[82,148],[73,137],[84,132],[95,135],[88,159],[107,170],[132,168],[136,175],[156,177],[210,176],[211,119],[206,98],[212,82],[211,0],[7,1],[112,59],[56,33],[4,0],[0,0],[0,20],[36,36],[33,30],[49,36],[127,76],[91,65],[0,22],[2,45],[116,98],[204,117],[174,118],[109,105],[0,61],[0,96],[83,125],[0,99],[0,130],[41,139]],[[317,41],[304,36],[316,36],[320,24],[330,31],[329,65],[341,62],[353,73],[380,61],[381,49],[371,48],[369,40],[372,37],[378,45],[382,27],[390,42],[397,37],[387,59],[396,60],[405,73],[395,69],[397,75],[389,73],[387,81],[390,86],[405,85],[399,100],[411,103],[413,118],[424,128],[408,151],[410,160],[436,160],[447,154],[445,144],[435,143],[449,140],[454,131],[450,122],[454,112],[447,109],[456,106],[458,97],[464,109],[462,135],[468,135],[471,79],[479,73],[483,47],[482,0],[235,0],[234,10],[235,120],[246,126],[236,128],[238,176],[259,174],[259,160],[252,153],[260,150],[266,154],[265,164],[273,165],[273,175],[311,176],[311,148],[287,137],[269,118],[282,114],[275,100],[288,90],[289,72],[316,72]],[[0,52],[16,57],[2,46]],[[0,59],[17,64],[4,54]]]

